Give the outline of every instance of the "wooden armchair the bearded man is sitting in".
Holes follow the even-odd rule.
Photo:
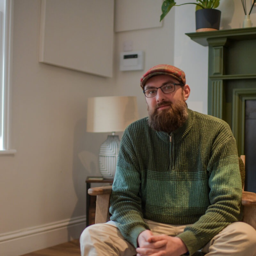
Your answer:
[[[241,161],[242,159],[242,161]],[[240,172],[244,184],[245,156],[241,156]],[[95,223],[104,223],[109,219],[109,198],[112,186],[89,188],[88,194],[97,196]],[[242,205],[244,210],[243,221],[256,229],[256,193],[243,191]]]

